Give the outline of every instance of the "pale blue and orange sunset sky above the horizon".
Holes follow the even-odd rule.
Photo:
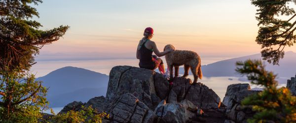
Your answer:
[[[71,28],[40,50],[37,60],[136,59],[145,28],[163,51],[166,44],[203,59],[260,53],[256,7],[250,0],[43,0],[40,29]],[[285,51],[296,48],[286,48]],[[42,57],[44,56],[44,57]]]

